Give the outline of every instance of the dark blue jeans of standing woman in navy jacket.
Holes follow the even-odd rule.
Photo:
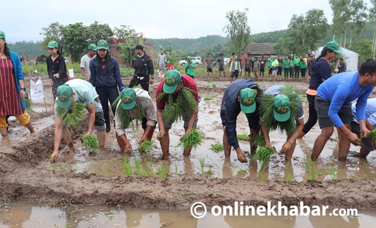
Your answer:
[[[104,121],[106,122],[106,128],[110,129],[110,108],[108,106],[108,101],[112,104],[116,98],[119,96],[118,88],[116,86],[97,86],[95,87],[96,93],[99,95],[100,103],[103,108]],[[115,116],[116,106],[112,108],[112,113]]]

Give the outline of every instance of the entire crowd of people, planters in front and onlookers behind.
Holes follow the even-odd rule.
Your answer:
[[[157,139],[160,141],[164,159],[169,157],[169,130],[172,124],[181,119],[184,121],[184,136],[197,127],[199,91],[194,80],[195,64],[186,63],[186,74],[181,74],[165,58],[163,51],[158,56],[157,64],[160,83],[157,87],[155,101],[149,94],[149,83],[154,83],[154,66],[152,57],[147,55],[142,45],[136,46],[137,58],[132,79],[125,87],[120,78],[120,70],[116,58],[109,54],[109,46],[105,40],[88,46],[88,53],[81,59],[81,72],[86,80],[70,80],[65,61],[55,41],[48,43],[50,56],[47,58],[49,82],[52,87],[55,111],[54,150],[51,162],[57,161],[59,145],[63,139],[71,152],[75,151],[71,133],[58,109],[72,109],[74,103],[81,103],[88,110],[87,137],[93,134],[94,128],[99,141],[99,148],[104,149],[106,132],[114,126],[116,138],[122,153],[129,156],[132,145],[126,136],[126,130],[133,127],[133,121],[141,122],[143,134],[139,142],[150,140],[158,126]],[[286,132],[286,142],[281,148],[285,160],[291,160],[296,139],[304,137],[319,121],[321,134],[315,140],[311,159],[317,160],[326,142],[334,131],[339,131],[339,160],[346,160],[350,143],[361,146],[360,157],[366,158],[375,149],[375,143],[366,136],[376,126],[376,98],[369,99],[376,85],[376,60],[364,62],[358,71],[346,71],[343,60],[339,61],[338,74],[332,76],[330,62],[341,53],[338,42],[329,41],[320,56],[269,56],[268,59],[247,57],[241,64],[241,53],[230,58],[231,83],[224,91],[220,117],[223,125],[223,145],[226,157],[235,149],[237,159],[247,162],[247,158],[239,147],[236,138],[236,120],[243,112],[250,128],[250,147],[254,153],[253,137],[262,135],[265,145],[274,148],[269,132],[279,129]],[[204,61],[207,64],[207,76],[213,78],[211,55]],[[167,66],[164,67],[164,64]],[[219,72],[225,66],[223,55],[217,60]],[[293,76],[303,78],[309,76],[309,87],[306,91],[309,104],[309,118],[304,123],[302,101],[291,86],[274,85],[263,91],[256,80],[250,79],[251,72],[256,79],[264,76],[264,68],[268,65],[272,77],[282,74],[285,78]],[[244,78],[241,70],[244,68]],[[308,70],[305,70],[308,69]],[[375,76],[375,78],[374,78]],[[140,85],[141,88],[135,88]],[[352,88],[351,90],[349,88]],[[30,132],[34,129],[24,104],[24,74],[18,55],[9,50],[5,34],[0,31],[0,132],[6,136],[6,116],[15,116],[21,125]],[[118,99],[119,98],[119,99]],[[115,101],[118,99],[118,103]],[[356,100],[356,103],[351,104]],[[110,121],[109,111],[115,116]],[[275,148],[274,148],[275,149]],[[189,156],[191,148],[184,149],[184,156]]]

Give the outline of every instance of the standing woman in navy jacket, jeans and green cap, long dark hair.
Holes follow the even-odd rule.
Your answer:
[[[108,43],[105,40],[99,40],[97,43],[96,56],[90,60],[90,83],[95,87],[102,104],[104,120],[106,122],[106,132],[111,130],[109,106],[118,98],[119,91],[125,89],[120,78],[120,69],[118,60],[109,53]],[[115,116],[116,106],[112,108]]]

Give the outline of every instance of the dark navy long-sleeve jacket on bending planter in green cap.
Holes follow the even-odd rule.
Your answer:
[[[240,102],[237,100],[237,97],[240,94],[240,91],[244,88],[257,89],[257,96],[262,94],[261,88],[252,80],[246,79],[237,79],[235,82],[231,83],[225,93],[223,94],[222,104],[221,104],[221,119],[222,124],[226,129],[227,141],[234,149],[239,147],[239,142],[236,137],[236,119],[240,109]],[[246,114],[248,119],[249,127],[258,126],[259,115],[258,115],[258,102],[256,103],[256,111],[253,114]],[[255,123],[255,121],[257,123]]]

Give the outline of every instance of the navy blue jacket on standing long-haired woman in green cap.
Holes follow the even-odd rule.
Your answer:
[[[111,60],[112,60],[112,66],[113,66],[111,74],[107,73],[106,68],[104,69],[100,68],[99,72],[97,72],[96,58],[90,60],[90,64],[89,64],[90,83],[94,87],[118,85],[118,87],[120,88],[124,86],[123,83],[121,82],[118,60],[116,60],[116,58],[114,57],[111,57]]]

